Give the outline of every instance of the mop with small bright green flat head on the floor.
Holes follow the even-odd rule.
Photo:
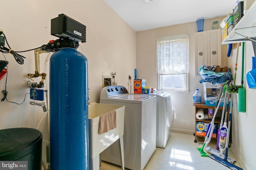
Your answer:
[[[223,86],[222,86],[222,88],[223,88]],[[221,90],[222,90],[222,88],[221,88]],[[221,90],[220,90],[220,92],[221,92]],[[207,145],[210,143],[210,141],[212,139],[212,133],[213,133],[213,130],[214,130],[214,119],[215,119],[215,117],[217,115],[217,112],[218,112],[218,109],[220,107],[220,99],[223,97],[224,91],[225,90],[223,89],[223,92],[220,93],[219,96],[218,96],[217,107],[214,110],[214,115],[213,115],[212,121],[208,125],[208,129],[206,131],[206,135],[205,135],[205,138],[204,138],[203,146],[202,146],[202,148],[196,148],[196,150],[198,150],[198,152],[201,154],[201,156],[204,156],[204,157],[208,157],[209,156],[206,152],[204,152],[204,146],[207,147]]]

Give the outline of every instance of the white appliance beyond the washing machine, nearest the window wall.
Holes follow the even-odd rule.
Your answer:
[[[169,93],[154,92],[156,96],[156,147],[165,148],[172,124],[172,101]]]

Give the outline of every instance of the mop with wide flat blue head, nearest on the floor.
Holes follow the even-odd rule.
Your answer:
[[[228,117],[228,130],[227,130],[227,135],[226,135],[225,156],[222,159],[214,154],[210,154],[209,157],[216,160],[217,162],[220,162],[221,164],[227,166],[228,168],[230,168],[232,170],[242,170],[242,168],[228,162],[228,142],[229,142],[229,133],[230,133],[230,125],[231,125],[231,117],[232,117],[233,95],[234,95],[234,93],[231,94],[230,112],[229,112],[229,117]]]

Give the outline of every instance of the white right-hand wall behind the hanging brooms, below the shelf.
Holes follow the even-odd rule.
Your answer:
[[[234,73],[236,63],[236,51],[232,50],[232,55],[228,58],[228,66],[232,68]],[[231,149],[238,158],[240,164],[244,165],[246,170],[255,170],[255,156],[256,149],[253,147],[256,141],[254,129],[256,128],[256,114],[255,114],[255,96],[256,89],[248,88],[246,82],[246,73],[252,70],[252,57],[254,51],[251,42],[245,43],[244,55],[244,88],[246,89],[246,112],[238,112],[238,94],[234,96],[234,106],[232,111],[232,145]],[[238,68],[236,72],[236,84],[241,85],[242,76],[242,44],[238,52]]]

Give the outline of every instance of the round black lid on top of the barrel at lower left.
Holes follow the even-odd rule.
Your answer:
[[[0,130],[0,160],[16,160],[42,146],[42,133],[32,128]]]

